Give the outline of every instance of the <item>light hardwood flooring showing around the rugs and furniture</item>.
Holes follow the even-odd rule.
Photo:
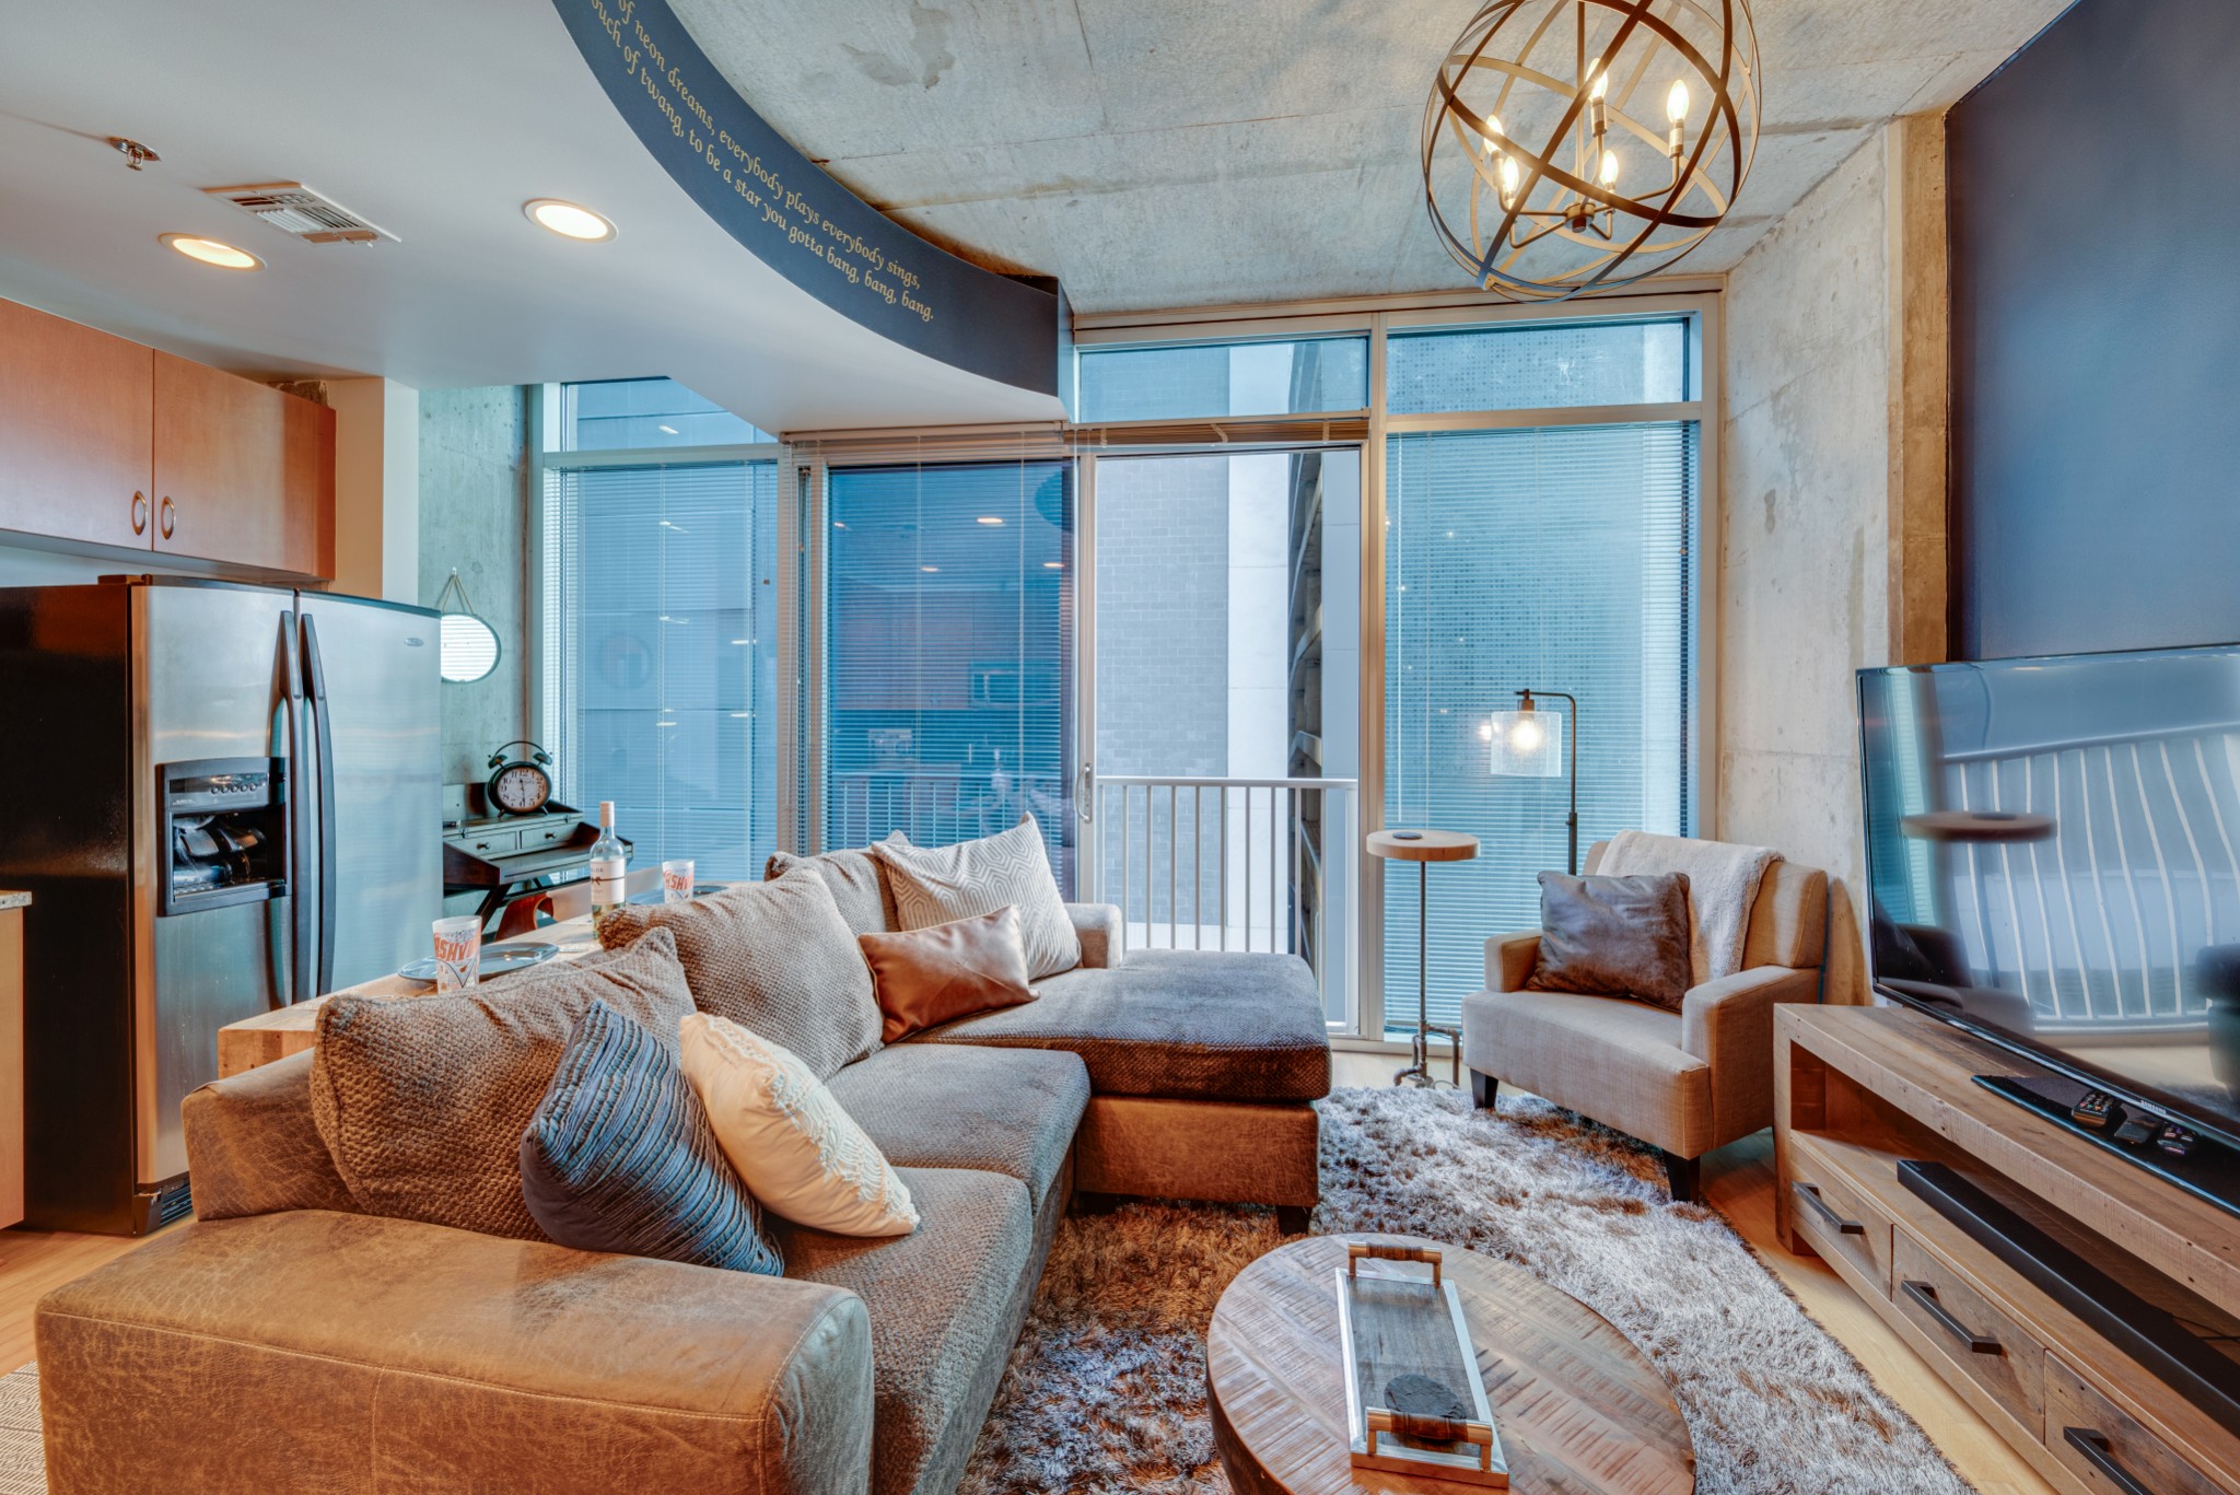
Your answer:
[[[1387,1085],[1398,1067],[1378,1053],[1333,1058],[1340,1085]],[[1774,1239],[1772,1132],[1705,1157],[1702,1183],[1711,1208],[1734,1222],[1736,1233],[1796,1293],[1805,1311],[1859,1356],[1891,1401],[1913,1414],[1982,1495],[2054,1495],[1823,1262],[1781,1248]],[[112,1235],[0,1231],[0,1372],[31,1361],[31,1309],[45,1291],[143,1242]]]

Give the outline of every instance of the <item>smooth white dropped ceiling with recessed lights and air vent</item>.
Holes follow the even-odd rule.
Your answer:
[[[732,242],[551,0],[0,0],[0,296],[246,374],[670,374],[766,430],[1062,415],[865,332]],[[110,134],[161,164],[125,170]],[[276,179],[401,242],[302,244],[202,193]],[[553,238],[531,197],[620,233]],[[193,264],[168,231],[267,264]]]

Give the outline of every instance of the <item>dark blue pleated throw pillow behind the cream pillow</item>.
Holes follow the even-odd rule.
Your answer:
[[[522,1197],[560,1246],[782,1275],[668,1044],[594,1002],[522,1132]]]

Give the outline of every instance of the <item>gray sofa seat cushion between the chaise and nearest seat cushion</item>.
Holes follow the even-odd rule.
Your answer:
[[[1089,1105],[1073,1053],[896,1044],[831,1078],[833,1098],[896,1168],[979,1168],[1042,1210]]]

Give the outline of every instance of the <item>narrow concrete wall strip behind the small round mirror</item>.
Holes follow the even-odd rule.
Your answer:
[[[529,726],[529,406],[517,386],[419,394],[419,603],[452,567],[497,630],[497,668],[444,684],[444,782],[479,782],[484,762]]]

